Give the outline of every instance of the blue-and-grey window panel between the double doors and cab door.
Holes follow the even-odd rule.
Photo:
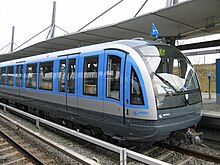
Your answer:
[[[79,116],[87,120],[103,120],[104,52],[83,53],[79,58]]]

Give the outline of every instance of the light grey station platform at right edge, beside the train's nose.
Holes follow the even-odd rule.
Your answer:
[[[202,99],[203,99],[202,115],[204,117],[220,119],[220,104],[216,103],[216,93],[211,93],[211,99],[209,99],[208,93],[202,93]]]

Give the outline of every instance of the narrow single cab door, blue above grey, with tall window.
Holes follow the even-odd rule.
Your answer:
[[[106,122],[125,123],[125,60],[125,52],[105,51],[104,120]]]

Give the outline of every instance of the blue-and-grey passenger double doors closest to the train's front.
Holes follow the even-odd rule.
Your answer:
[[[59,58],[58,92],[62,93],[61,102],[66,110],[78,115],[77,105],[77,55]]]

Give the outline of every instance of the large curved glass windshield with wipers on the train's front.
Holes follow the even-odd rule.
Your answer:
[[[179,98],[177,106],[201,101],[199,83],[194,68],[180,51],[166,45],[141,46],[137,51],[142,55],[148,67],[158,100],[164,101],[168,96],[173,100],[176,97],[176,100]],[[197,94],[192,95],[192,93]],[[168,101],[168,104],[163,104],[162,108],[170,106],[175,107],[176,105],[172,105]]]

